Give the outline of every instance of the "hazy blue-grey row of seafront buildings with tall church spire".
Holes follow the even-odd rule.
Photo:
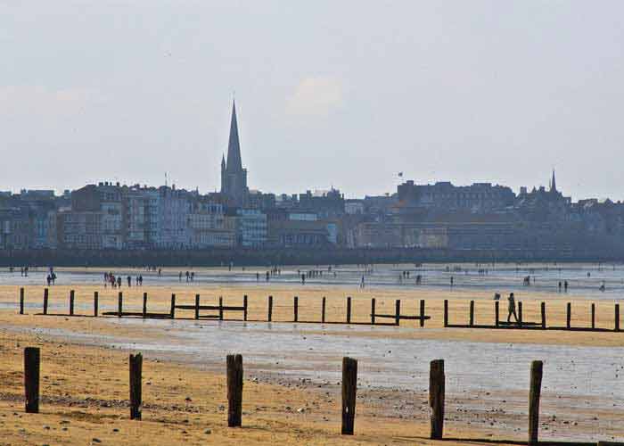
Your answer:
[[[624,244],[624,203],[572,202],[550,179],[507,186],[406,181],[392,194],[265,194],[247,185],[235,105],[221,189],[103,181],[55,195],[0,192],[0,250],[575,249]]]

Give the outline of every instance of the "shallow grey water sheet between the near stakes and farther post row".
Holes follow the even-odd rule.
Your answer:
[[[133,342],[64,329],[34,329],[84,343],[175,355],[185,362],[220,365],[227,353],[241,353],[257,371],[306,377],[313,382],[340,379],[341,358],[359,360],[361,384],[424,390],[429,361],[445,359],[448,392],[525,391],[530,361],[544,361],[544,392],[600,397],[607,407],[624,401],[624,348],[577,347],[526,343],[473,343],[442,340],[383,339],[366,332],[404,330],[382,326],[346,326],[342,335],[309,334],[288,323],[217,322],[138,318],[107,319],[113,325],[150,326],[165,334],[155,341]],[[319,326],[324,332],[326,326]],[[327,327],[333,332],[336,326]],[[309,327],[306,327],[309,330]],[[356,335],[357,336],[350,336]]]

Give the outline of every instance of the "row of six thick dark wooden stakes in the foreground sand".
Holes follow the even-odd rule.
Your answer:
[[[24,389],[25,410],[27,413],[39,412],[39,370],[41,355],[38,347],[24,349]],[[140,420],[142,417],[143,393],[143,355],[130,354],[129,360],[129,405],[130,419]],[[530,367],[529,392],[529,443],[538,442],[539,430],[539,398],[542,383],[542,361],[533,361]],[[227,376],[227,425],[242,426],[242,355],[232,354],[226,357]],[[442,440],[444,432],[445,409],[444,359],[434,359],[430,363],[429,405],[430,438]],[[341,434],[354,434],[357,394],[357,359],[342,359],[342,413]]]

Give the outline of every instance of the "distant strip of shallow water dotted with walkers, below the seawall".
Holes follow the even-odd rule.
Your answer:
[[[300,267],[301,271],[311,267]],[[597,265],[597,264],[559,264],[559,265],[521,265],[498,264],[495,267],[477,267],[474,264],[450,265],[449,270],[445,265],[424,265],[415,268],[414,265],[376,265],[370,274],[364,274],[363,269],[357,266],[345,266],[333,268],[328,272],[324,268],[322,277],[308,278],[308,284],[332,285],[343,287],[357,287],[362,277],[365,278],[365,286],[374,289],[384,288],[414,288],[416,275],[423,277],[421,288],[448,289],[451,277],[456,290],[477,290],[491,293],[509,293],[520,291],[552,293],[561,296],[558,284],[565,280],[570,287],[567,295],[592,300],[617,300],[624,295],[624,266],[622,265]],[[461,268],[461,270],[453,270]],[[478,268],[487,268],[487,274],[479,274]],[[410,271],[409,278],[403,278],[402,271]],[[260,272],[257,280],[256,272]],[[201,268],[195,272],[195,278],[189,286],[201,285],[267,285],[263,268],[236,268],[226,271],[223,268]],[[102,268],[85,268],[85,270],[57,269],[57,285],[101,285],[103,283]],[[181,282],[177,272],[166,271],[158,276],[153,271],[138,269],[119,270],[113,273],[124,277],[130,275],[136,277],[141,274],[144,277],[144,285],[179,285]],[[334,275],[335,273],[335,275]],[[21,277],[20,270],[10,273],[7,268],[0,270],[0,285],[45,285],[45,268],[31,270],[29,277]],[[530,276],[531,285],[522,285],[522,278]],[[183,284],[187,284],[185,277]],[[284,269],[280,276],[271,277],[270,285],[298,285],[301,283],[297,269]],[[600,291],[600,286],[605,286],[605,291]]]

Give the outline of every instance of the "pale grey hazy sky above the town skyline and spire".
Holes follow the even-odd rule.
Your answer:
[[[557,186],[624,200],[624,2],[0,0],[0,190]],[[403,172],[403,178],[398,178]]]

